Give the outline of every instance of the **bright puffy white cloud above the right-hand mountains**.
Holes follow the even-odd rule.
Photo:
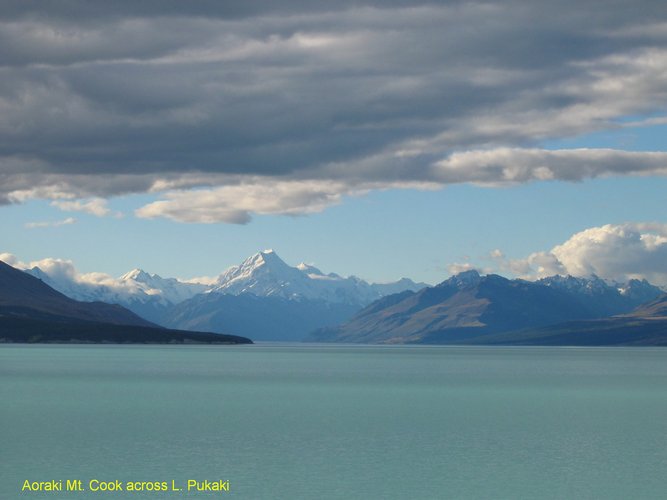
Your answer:
[[[549,251],[524,259],[495,255],[505,271],[527,279],[571,274],[667,285],[667,224],[606,224],[578,232]]]

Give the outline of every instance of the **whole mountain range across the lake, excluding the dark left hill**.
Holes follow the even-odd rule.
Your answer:
[[[166,328],[254,340],[667,344],[664,292],[645,280],[610,284],[595,276],[552,276],[530,282],[467,271],[434,287],[406,278],[370,284],[354,276],[324,274],[307,264],[291,267],[271,250],[209,283],[161,278],[138,269],[104,285],[56,279],[39,268],[26,273],[74,299],[120,304]]]

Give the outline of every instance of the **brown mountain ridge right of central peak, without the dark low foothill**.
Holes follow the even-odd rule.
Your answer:
[[[640,286],[641,285],[641,286]],[[648,284],[622,293],[599,278],[554,277],[528,282],[466,271],[419,292],[390,295],[349,322],[323,328],[310,338],[327,342],[459,343],[473,338],[601,318],[632,310]],[[651,285],[648,285],[651,286]],[[637,291],[641,288],[641,293]],[[627,287],[626,287],[627,289]],[[654,296],[661,293],[654,287]],[[642,295],[643,294],[643,295]]]

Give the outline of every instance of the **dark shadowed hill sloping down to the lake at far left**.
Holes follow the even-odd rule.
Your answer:
[[[0,342],[248,343],[248,339],[168,330],[127,309],[79,302],[0,261]]]

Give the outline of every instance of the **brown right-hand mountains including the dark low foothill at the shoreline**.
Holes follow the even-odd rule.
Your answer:
[[[596,277],[529,282],[467,271],[432,288],[378,300],[343,325],[313,332],[309,340],[667,345],[667,296],[639,280],[621,286]]]

